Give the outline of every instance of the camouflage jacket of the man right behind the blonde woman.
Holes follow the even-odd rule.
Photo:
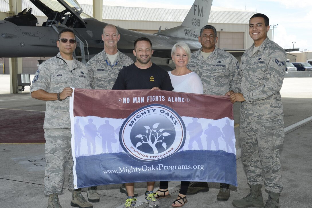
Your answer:
[[[191,54],[188,69],[201,78],[204,94],[224,95],[230,90],[240,92],[239,63],[236,58],[216,47],[204,60],[201,50]]]

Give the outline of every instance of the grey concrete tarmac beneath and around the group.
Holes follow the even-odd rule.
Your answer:
[[[42,113],[45,111],[45,102],[32,99],[30,94],[7,94],[2,91],[2,75],[0,75],[0,115],[4,111],[13,111],[12,118],[18,118],[20,111],[32,111]],[[285,82],[286,81],[286,82]],[[312,139],[312,78],[285,78],[284,89],[289,89],[283,96],[285,140],[280,150],[282,176],[284,188],[280,196],[281,208],[312,207],[311,200],[311,139]],[[287,84],[287,86],[286,86]],[[291,85],[291,86],[289,86]],[[304,85],[302,87],[302,85]],[[5,86],[7,88],[7,85]],[[25,87],[26,88],[26,87]],[[29,89],[29,88],[28,88]],[[27,91],[27,89],[25,90]],[[290,92],[294,91],[294,92]],[[29,91],[28,91],[29,92]],[[284,93],[285,94],[285,93]],[[7,121],[1,120],[0,126]],[[16,121],[23,128],[23,121]],[[234,105],[234,122],[239,123],[239,104]],[[42,124],[43,126],[43,124]],[[9,128],[9,126],[8,126]],[[14,129],[12,130],[14,135]],[[238,127],[235,128],[237,150],[237,181],[238,186],[231,186],[231,196],[228,201],[217,201],[219,185],[209,183],[210,190],[206,193],[187,196],[186,208],[195,207],[233,207],[232,200],[245,197],[249,193],[246,183],[246,174],[243,170],[240,156],[240,142]],[[0,132],[1,137],[1,132]],[[44,196],[44,144],[29,143],[0,143],[0,207],[2,208],[45,208],[48,198]],[[65,174],[66,175],[66,174]],[[59,196],[63,208],[71,207],[71,192],[67,188],[67,178],[64,185],[64,193]],[[155,190],[159,183],[156,182]],[[169,182],[170,198],[161,199],[161,207],[171,207],[179,191],[179,182]],[[146,183],[136,183],[135,189],[139,193],[137,197],[138,208],[148,207],[143,202]],[[83,189],[86,191],[86,189]],[[126,195],[119,192],[119,184],[99,186],[100,202],[92,203],[94,208],[120,207],[124,205]],[[268,195],[262,187],[264,200]],[[86,193],[83,193],[86,198]]]

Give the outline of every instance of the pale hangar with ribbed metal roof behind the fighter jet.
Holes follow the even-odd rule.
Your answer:
[[[93,16],[92,1],[79,0],[78,2],[83,12]],[[190,6],[185,5],[151,3],[134,5],[133,3],[122,2],[122,6],[120,5],[120,2],[103,1],[102,21],[145,33],[156,33],[159,30],[163,31],[181,25],[190,9]],[[46,21],[47,17],[32,2],[22,0],[22,9],[24,8],[32,8],[32,14],[38,19],[38,26],[41,26]],[[249,18],[255,13],[253,11],[212,6],[208,24],[213,25],[217,29],[219,38],[217,47],[227,49],[229,52],[234,51],[234,49],[247,49],[250,47],[253,41],[248,34],[248,22]],[[0,19],[14,14],[7,1],[0,0]],[[207,23],[201,24],[204,26]],[[269,37],[271,37],[271,30]],[[22,58],[22,73],[34,74],[39,65],[37,59],[46,60],[47,58],[49,57]],[[240,57],[236,58],[240,60]],[[2,63],[3,68],[3,70],[0,70],[0,74],[9,73],[8,59],[0,59],[0,64]]]

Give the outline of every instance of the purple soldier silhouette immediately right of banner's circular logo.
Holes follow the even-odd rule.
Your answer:
[[[202,150],[202,140],[200,136],[202,136],[202,125],[197,122],[197,118],[193,118],[193,122],[189,123],[188,126],[186,127],[186,130],[188,131],[188,134],[190,135],[190,141],[188,143],[188,149],[192,150],[193,149],[193,143],[194,141],[197,142],[198,149]]]

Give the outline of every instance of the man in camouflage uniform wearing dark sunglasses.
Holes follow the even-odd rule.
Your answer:
[[[68,189],[72,190],[71,206],[92,208],[81,195],[81,189],[74,190],[68,98],[73,92],[71,87],[90,89],[88,71],[83,63],[73,59],[76,40],[71,29],[61,30],[56,44],[60,52],[39,66],[30,87],[32,98],[47,101],[43,125],[46,139],[44,193],[49,196],[48,208],[61,208],[58,194],[63,192],[67,159]]]

